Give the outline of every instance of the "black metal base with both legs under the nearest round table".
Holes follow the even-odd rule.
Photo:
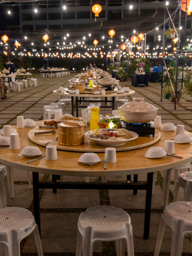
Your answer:
[[[56,175],[55,175],[56,176]],[[40,229],[40,199],[39,189],[129,189],[133,190],[134,194],[137,194],[137,190],[146,190],[145,197],[145,215],[144,215],[144,232],[143,238],[148,239],[150,234],[150,218],[151,218],[151,203],[152,203],[152,186],[153,186],[153,173],[147,174],[146,183],[135,183],[137,177],[134,177],[134,183],[129,182],[130,175],[127,176],[127,183],[84,183],[84,182],[39,182],[39,173],[33,172],[33,201],[34,201],[34,217],[36,224]],[[56,177],[55,177],[56,180]]]

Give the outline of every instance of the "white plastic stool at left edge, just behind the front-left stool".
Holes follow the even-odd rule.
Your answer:
[[[6,199],[5,199],[5,196],[6,196]],[[0,164],[0,208],[1,209],[6,208],[6,200],[7,200],[7,206],[11,206],[6,168],[3,164]]]

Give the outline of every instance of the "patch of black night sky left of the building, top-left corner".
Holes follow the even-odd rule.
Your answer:
[[[11,14],[8,14],[9,10]],[[7,30],[7,25],[19,25],[19,6],[15,2],[0,5],[0,31]]]

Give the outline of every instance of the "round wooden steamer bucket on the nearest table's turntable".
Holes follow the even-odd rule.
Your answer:
[[[84,143],[86,126],[58,123],[58,143],[63,146],[76,146]]]

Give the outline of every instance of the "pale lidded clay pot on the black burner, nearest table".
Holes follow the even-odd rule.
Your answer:
[[[158,108],[143,101],[144,98],[135,97],[133,101],[119,106],[119,117],[129,123],[147,123],[157,116]]]

